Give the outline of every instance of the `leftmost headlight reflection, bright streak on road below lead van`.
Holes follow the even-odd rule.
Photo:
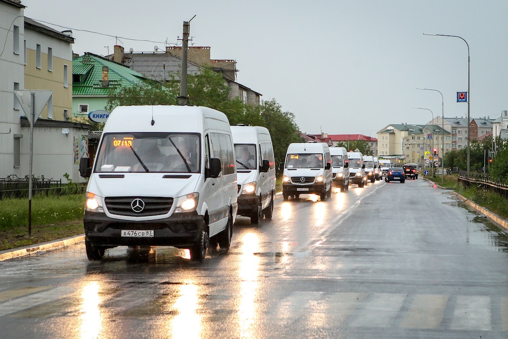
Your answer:
[[[99,282],[89,282],[81,292],[81,328],[80,336],[83,339],[99,338],[102,329],[102,315],[99,309],[101,295]]]

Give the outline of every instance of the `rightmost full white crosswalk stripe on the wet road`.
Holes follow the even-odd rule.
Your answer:
[[[452,329],[492,330],[489,296],[459,295]]]

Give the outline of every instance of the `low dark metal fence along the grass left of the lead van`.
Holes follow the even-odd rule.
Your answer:
[[[17,175],[9,175],[7,178],[0,178],[0,200],[4,198],[26,198],[28,197],[29,182],[28,175],[23,178]],[[32,194],[45,194],[46,196],[84,193],[85,184],[72,183],[62,184],[61,179],[32,178]]]

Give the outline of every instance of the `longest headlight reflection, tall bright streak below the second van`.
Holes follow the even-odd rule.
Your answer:
[[[257,234],[247,233],[242,238],[240,256],[240,304],[238,323],[241,338],[256,337],[256,296],[258,294],[258,274],[260,257],[259,238]]]

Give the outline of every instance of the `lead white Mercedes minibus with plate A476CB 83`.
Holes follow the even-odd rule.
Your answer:
[[[106,122],[89,176],[86,255],[115,246],[175,246],[202,261],[229,249],[237,212],[235,153],[224,113],[193,106],[120,106]]]

